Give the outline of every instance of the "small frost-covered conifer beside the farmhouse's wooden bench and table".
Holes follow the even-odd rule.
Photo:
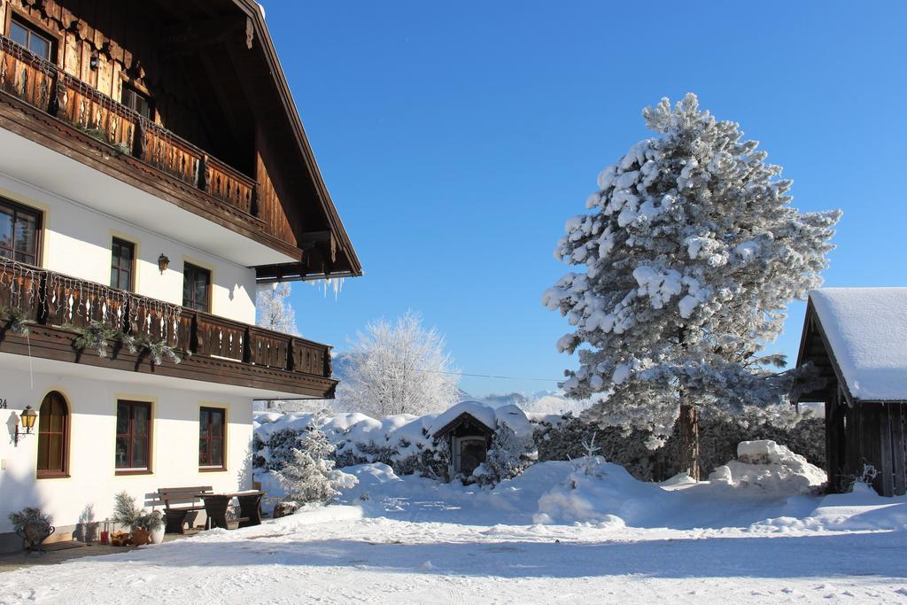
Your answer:
[[[278,502],[290,510],[308,503],[327,504],[341,488],[356,485],[356,477],[334,469],[334,445],[317,424],[309,425],[307,434],[299,437],[290,460],[280,470],[272,471],[285,493]]]

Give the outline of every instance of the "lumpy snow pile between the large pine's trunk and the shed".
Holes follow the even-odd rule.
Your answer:
[[[737,459],[719,466],[709,482],[736,490],[772,496],[818,493],[825,472],[774,441],[744,441],[737,445]]]

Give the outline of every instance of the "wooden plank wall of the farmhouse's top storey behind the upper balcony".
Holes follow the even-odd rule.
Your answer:
[[[123,83],[151,93],[155,122],[210,149],[210,137],[201,126],[201,111],[192,102],[180,69],[162,63],[162,25],[141,2],[121,0],[0,0],[0,24],[5,12],[27,15],[57,34],[62,67],[114,101],[122,99]],[[10,8],[12,7],[12,8]],[[8,34],[4,31],[4,34]],[[98,56],[98,69],[91,57]]]

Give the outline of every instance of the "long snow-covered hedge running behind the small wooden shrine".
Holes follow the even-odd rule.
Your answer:
[[[474,474],[483,484],[510,479],[535,461],[571,460],[586,452],[595,434],[595,445],[609,463],[619,464],[642,481],[664,481],[680,472],[678,431],[658,450],[647,447],[649,434],[619,428],[601,429],[573,415],[536,415],[516,405],[492,408],[463,402],[440,415],[395,415],[375,420],[362,414],[330,417],[313,414],[255,415],[255,471],[260,477],[279,471],[292,457],[292,448],[307,427],[317,424],[333,444],[336,468],[356,464],[387,464],[398,475],[443,477],[450,464],[446,443],[435,442],[434,433],[463,412],[495,430],[485,464]],[[703,415],[699,419],[700,464],[703,476],[736,457],[737,444],[772,440],[795,454],[823,466],[824,419],[811,414],[795,415],[748,412],[733,418]]]

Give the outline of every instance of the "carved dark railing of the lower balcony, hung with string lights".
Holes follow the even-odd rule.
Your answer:
[[[331,376],[327,345],[8,259],[0,259],[0,312],[5,329],[12,317],[25,326],[63,327],[73,337],[85,328],[103,327],[108,334],[163,343],[183,356]]]

